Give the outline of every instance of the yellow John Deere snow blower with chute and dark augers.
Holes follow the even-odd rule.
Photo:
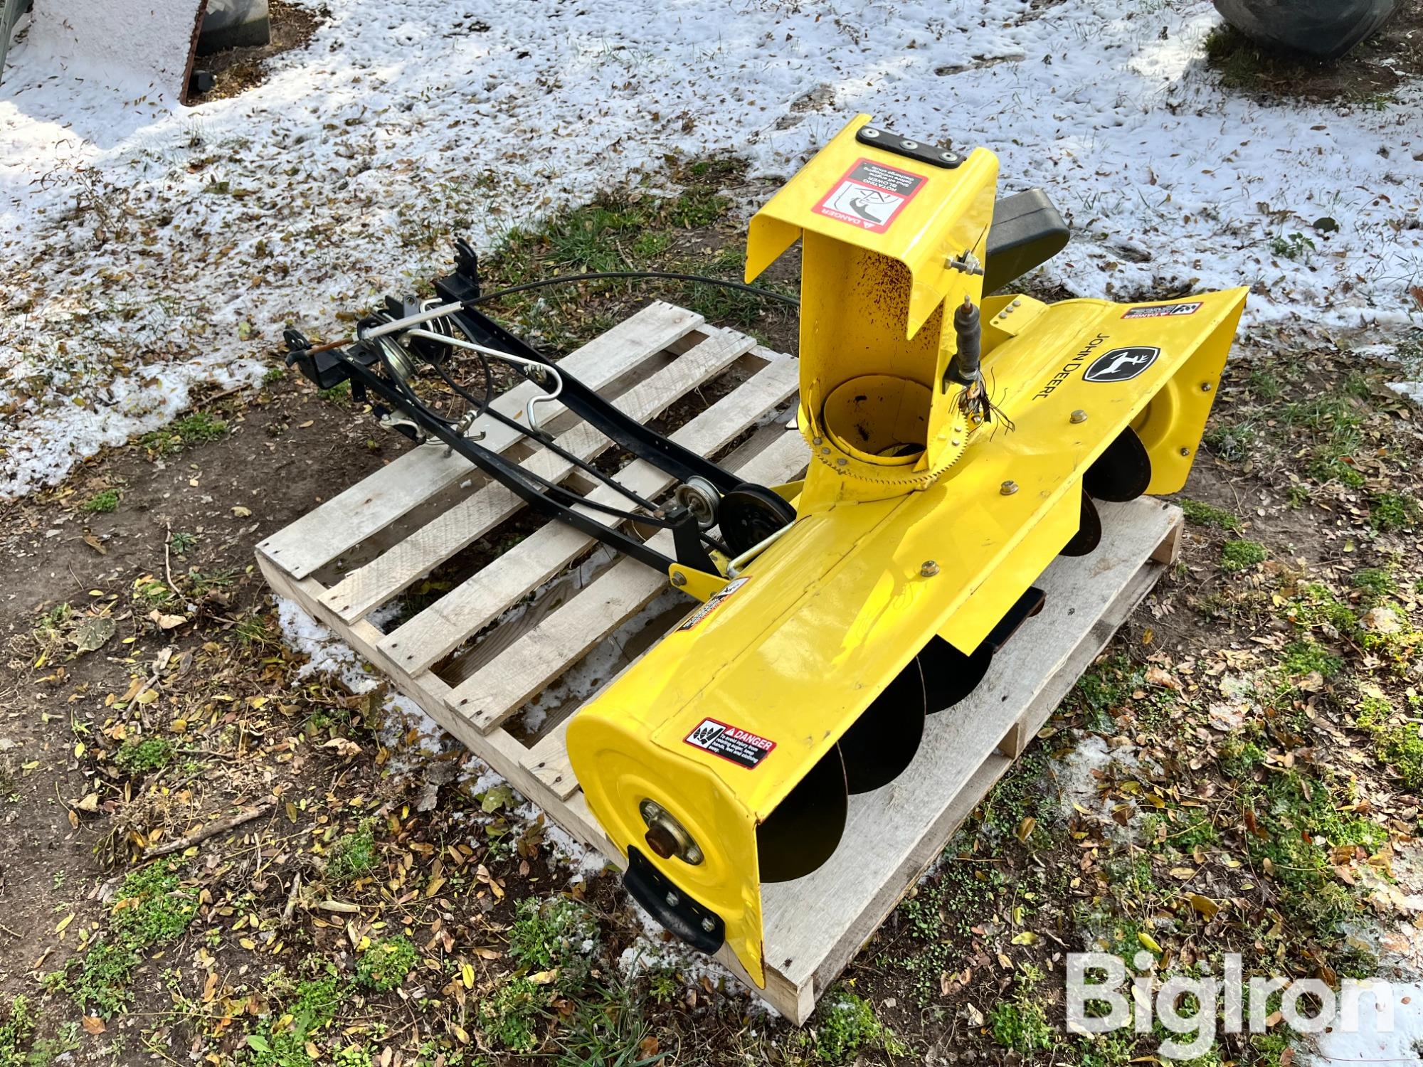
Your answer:
[[[754,546],[719,573],[672,568],[704,603],[569,724],[630,892],[757,983],[761,883],[820,866],[848,794],[909,765],[1043,569],[1096,546],[1093,498],[1185,484],[1244,307],[985,296],[1066,242],[996,181],[983,148],[861,115],[751,219],[747,280],[803,242],[808,472],[739,504]]]

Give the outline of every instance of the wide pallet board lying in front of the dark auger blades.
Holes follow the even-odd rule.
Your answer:
[[[1143,561],[1173,535],[1180,511],[1147,498],[1097,506],[1104,531],[1097,549],[1053,562],[1036,582],[1047,593],[1042,613],[1023,623],[983,683],[929,716],[904,774],[851,797],[845,835],[830,861],[805,878],[761,886],[768,962],[793,984],[840,973],[986,785],[1012,765],[996,751],[1005,733],[1022,723],[1035,734],[1155,583],[1163,565]],[[975,782],[985,768],[980,790]],[[814,923],[804,920],[808,913]]]

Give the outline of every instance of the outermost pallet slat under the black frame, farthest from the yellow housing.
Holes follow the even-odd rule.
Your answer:
[[[558,366],[592,388],[602,388],[702,323],[700,314],[659,300],[569,353]],[[541,391],[525,381],[498,397],[494,407],[512,418]],[[544,405],[541,414],[552,418],[561,410],[562,404],[551,403]],[[475,423],[474,430],[481,428],[485,431],[484,444],[495,451],[508,448],[517,440],[512,430],[494,420]],[[258,549],[280,562],[293,578],[306,578],[467,477],[470,464],[458,455],[447,457],[443,444],[413,448],[273,534]]]

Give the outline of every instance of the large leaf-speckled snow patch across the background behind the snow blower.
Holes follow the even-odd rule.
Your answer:
[[[43,33],[13,48],[0,495],[175,413],[125,423],[77,414],[77,396],[219,380],[286,323],[329,339],[336,310],[443,269],[445,236],[488,249],[667,154],[744,154],[784,178],[855,111],[993,149],[1003,192],[1044,188],[1074,235],[1049,285],[1116,299],[1249,285],[1248,323],[1417,316],[1423,230],[1405,223],[1423,212],[1423,84],[1345,115],[1262,107],[1205,68],[1208,0],[332,7],[265,84],[195,108],[115,92],[121,64],[65,67]],[[1315,229],[1326,216],[1336,230]]]

